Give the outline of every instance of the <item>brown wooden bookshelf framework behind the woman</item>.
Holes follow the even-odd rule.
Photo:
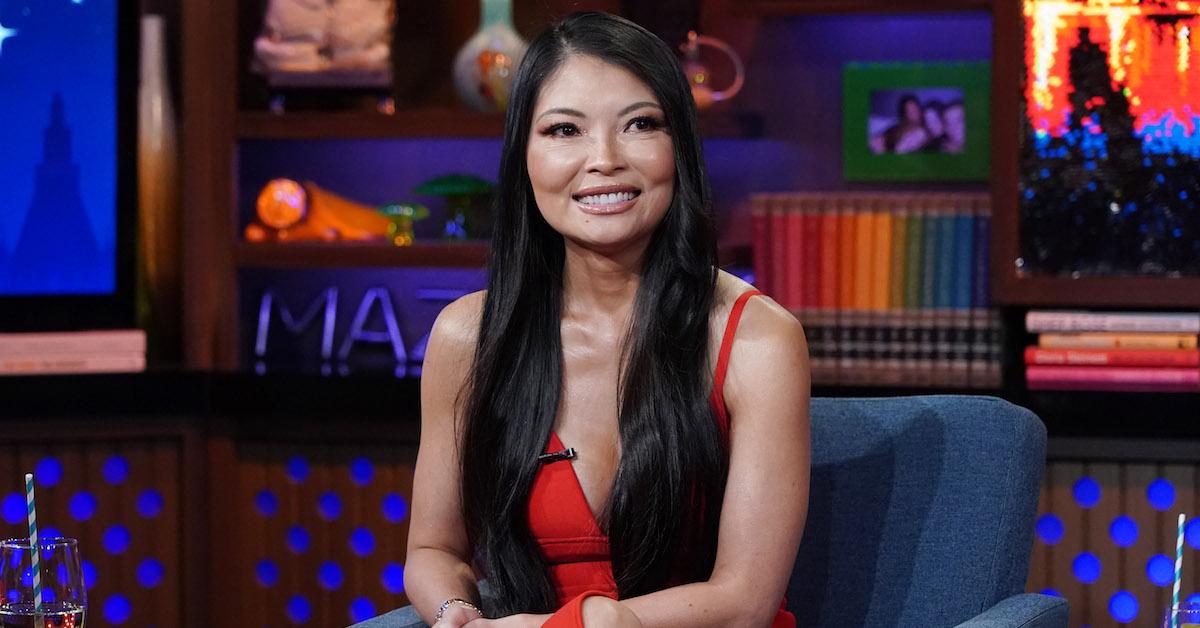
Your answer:
[[[166,1],[166,0],[164,0]],[[527,36],[540,24],[571,10],[620,12],[630,2],[517,0],[515,17]],[[631,2],[638,5],[638,2]],[[973,11],[992,16],[994,94],[1014,95],[1019,88],[1021,24],[1018,0],[702,0],[701,26],[742,49],[752,49],[757,28],[775,28],[779,17],[828,13],[929,13]],[[180,2],[174,11],[182,31],[184,114],[184,238],[186,364],[197,369],[235,369],[238,274],[245,268],[317,269],[382,268],[404,265],[481,264],[481,247],[457,249],[437,243],[409,250],[371,245],[250,245],[238,234],[239,154],[247,143],[287,143],[311,139],[420,140],[424,138],[498,138],[498,114],[466,112],[457,107],[449,82],[449,62],[456,42],[464,40],[478,20],[478,2],[457,0],[421,8],[400,6],[397,54],[418,54],[422,62],[397,70],[398,110],[373,112],[266,110],[266,97],[247,62],[257,35],[262,6],[216,0]],[[229,19],[233,17],[234,19]],[[751,65],[754,59],[750,59]],[[769,67],[769,66],[764,66]],[[212,89],[236,85],[238,89]],[[752,89],[751,89],[752,90]],[[774,86],[740,97],[746,109],[720,109],[702,115],[702,130],[718,139],[782,139],[784,113],[773,106]],[[773,108],[774,107],[774,108]],[[1015,97],[995,98],[992,107],[994,237],[991,283],[997,303],[1014,307],[1091,305],[1116,309],[1200,306],[1200,280],[1195,279],[1079,279],[1024,277],[1013,268],[1016,257],[1014,156]],[[802,113],[803,115],[803,113]],[[835,126],[835,125],[824,125]],[[782,134],[781,134],[782,133]],[[817,140],[824,140],[823,136]],[[766,166],[766,163],[764,163]],[[907,186],[905,189],[911,189]],[[733,256],[738,258],[738,256]],[[748,259],[742,255],[740,259]],[[730,256],[722,253],[722,262]]]

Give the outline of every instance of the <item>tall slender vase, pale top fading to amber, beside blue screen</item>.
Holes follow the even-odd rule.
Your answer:
[[[138,324],[148,357],[173,361],[180,329],[180,225],[175,109],[162,16],[142,18],[138,89]]]

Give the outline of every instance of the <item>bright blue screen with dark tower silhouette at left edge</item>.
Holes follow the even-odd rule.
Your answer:
[[[116,85],[116,0],[0,0],[0,297],[115,291]]]

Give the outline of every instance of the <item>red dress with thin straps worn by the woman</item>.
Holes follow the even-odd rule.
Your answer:
[[[730,419],[725,408],[725,371],[730,363],[733,334],[746,300],[758,291],[738,297],[730,312],[721,348],[713,376],[713,407],[721,431],[728,433]],[[565,449],[558,435],[550,433],[546,453]],[[560,608],[544,628],[582,628],[582,604],[588,596],[617,599],[617,582],[612,576],[608,537],[600,530],[592,508],[583,495],[583,486],[575,476],[570,460],[557,460],[541,466],[529,492],[529,528],[541,546],[550,578],[558,592]],[[780,605],[772,628],[793,628],[796,617]]]

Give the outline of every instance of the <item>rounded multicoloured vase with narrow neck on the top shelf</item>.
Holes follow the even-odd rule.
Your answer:
[[[512,28],[511,0],[480,0],[479,30],[458,50],[454,82],[462,101],[478,112],[503,112],[528,44]]]

